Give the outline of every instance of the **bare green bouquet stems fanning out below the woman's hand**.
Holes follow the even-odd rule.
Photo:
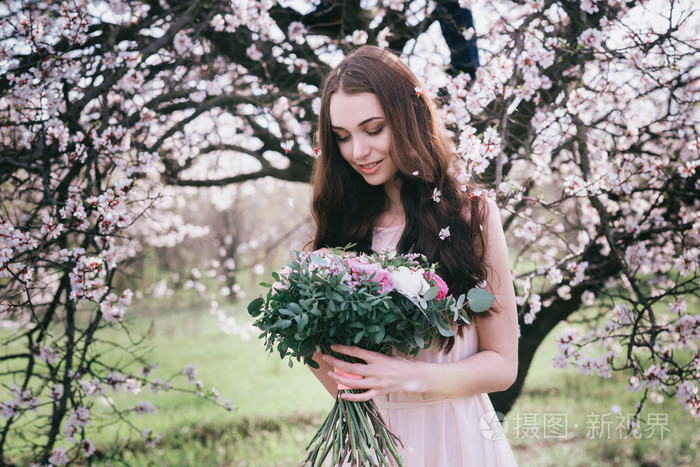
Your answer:
[[[403,467],[397,444],[399,438],[387,428],[373,400],[353,402],[341,398],[306,446],[308,456],[302,466]],[[330,457],[328,457],[330,455]],[[393,459],[393,462],[392,462]]]

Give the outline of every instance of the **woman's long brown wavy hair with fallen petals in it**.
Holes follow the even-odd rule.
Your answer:
[[[312,177],[316,234],[311,243],[313,248],[355,243],[357,250],[371,251],[372,228],[388,199],[382,186],[369,185],[341,156],[329,108],[338,90],[372,93],[391,131],[389,155],[402,181],[406,226],[397,249],[438,262],[438,274],[459,295],[486,277],[481,229],[486,208],[480,197],[470,196],[476,186],[462,191],[449,174],[453,144],[435,103],[416,91],[421,86],[397,56],[374,46],[350,53],[326,76],[318,118],[321,156]],[[440,202],[431,198],[435,188],[442,193]],[[439,232],[447,226],[450,236],[440,240]],[[441,344],[449,349],[452,340]]]

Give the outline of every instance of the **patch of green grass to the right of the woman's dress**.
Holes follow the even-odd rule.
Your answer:
[[[661,403],[647,400],[640,436],[628,436],[626,417],[635,412],[640,394],[624,389],[627,378],[623,374],[616,373],[605,379],[554,368],[551,361],[556,354],[554,337],[557,334],[555,328],[538,350],[523,393],[507,417],[508,438],[520,465],[691,466],[700,463],[696,453],[700,445],[698,420],[680,403],[668,398]],[[557,430],[547,433],[545,418],[565,421],[566,438],[559,439]],[[535,437],[529,436],[532,426],[539,430]]]

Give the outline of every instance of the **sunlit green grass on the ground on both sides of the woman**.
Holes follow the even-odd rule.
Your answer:
[[[149,359],[160,364],[154,375],[166,379],[195,364],[205,391],[215,387],[235,409],[228,412],[176,391],[153,395],[144,388],[137,395],[107,394],[121,408],[143,400],[156,405],[156,414],[131,420],[138,430],[152,428],[162,440],[156,448],[146,449],[138,431],[110,424],[90,433],[99,450],[117,452],[121,461],[134,466],[298,465],[332,405],[330,396],[302,365],[290,369],[286,361],[267,354],[257,339],[226,335],[214,316],[196,307],[182,311],[184,303],[177,298],[141,301],[129,310],[133,329],[145,331],[151,321],[155,323],[148,341]],[[241,303],[227,312],[241,321],[246,318],[244,307]],[[609,414],[614,419],[615,405],[623,415],[632,413],[638,394],[624,390],[622,375],[606,380],[553,368],[556,334],[557,330],[539,349],[523,394],[507,416],[507,435],[521,466],[700,464],[698,421],[675,400],[648,402],[644,412],[647,417],[668,417],[664,426],[669,431],[663,439],[658,430],[647,436],[644,424],[641,439],[627,438],[615,425],[610,436],[591,436],[589,428],[596,417]],[[106,331],[103,338],[127,342],[124,331],[117,328]],[[184,377],[176,381],[193,389]],[[561,432],[545,433],[545,418],[564,422],[565,439],[553,437]]]

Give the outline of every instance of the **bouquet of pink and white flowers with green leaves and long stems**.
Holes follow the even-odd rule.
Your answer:
[[[395,252],[364,255],[344,249],[314,253],[296,251],[295,259],[275,282],[262,283],[265,299],[248,305],[263,332],[266,349],[318,368],[317,350],[338,358],[332,344],[356,345],[390,354],[394,349],[415,355],[439,335],[454,335],[453,326],[469,323],[465,306],[486,311],[493,295],[474,287],[467,296],[448,294],[435,273],[437,265],[424,256]],[[352,391],[340,388],[342,391]],[[338,397],[321,428],[307,446],[302,465],[402,466],[396,448],[400,440],[389,431],[373,401]],[[329,458],[330,456],[330,458]]]

